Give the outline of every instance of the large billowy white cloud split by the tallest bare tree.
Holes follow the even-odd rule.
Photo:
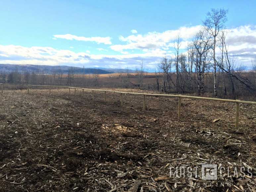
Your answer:
[[[181,47],[186,52],[186,46],[192,42],[193,36],[202,28],[201,25],[180,27],[177,30],[167,30],[160,32],[148,32],[145,35],[136,34],[128,37],[120,36],[119,40],[126,44],[112,45],[110,48],[123,54],[128,54],[127,50],[142,50],[143,52],[152,52],[160,49],[167,53],[173,53],[174,40],[181,38]],[[245,25],[236,28],[226,29],[227,45],[229,46],[230,56],[236,57],[237,62],[243,65],[250,65],[251,60],[256,57],[256,26]],[[182,50],[181,50],[182,52]],[[217,50],[218,52],[218,50]]]

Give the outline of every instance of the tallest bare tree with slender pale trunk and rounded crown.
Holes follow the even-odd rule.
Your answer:
[[[216,57],[215,57],[215,49],[216,49],[216,41],[217,36],[225,26],[227,21],[227,13],[228,10],[225,9],[211,9],[210,12],[207,13],[207,18],[203,22],[205,29],[213,36],[213,69],[214,69],[214,96],[217,96],[217,82],[216,82]]]

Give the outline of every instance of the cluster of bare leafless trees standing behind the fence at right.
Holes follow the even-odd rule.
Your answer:
[[[203,95],[205,77],[212,74],[214,96],[220,93],[218,87],[222,87],[223,95],[227,95],[229,89],[229,94],[235,96],[235,86],[243,86],[247,91],[255,93],[255,71],[245,72],[243,67],[235,66],[234,60],[229,57],[227,32],[224,30],[227,12],[225,9],[212,9],[208,12],[203,28],[194,36],[192,43],[187,45],[187,54],[180,54],[181,39],[177,37],[174,43],[175,58],[164,57],[158,64],[159,71],[163,73],[162,91],[197,92]],[[220,80],[222,85],[218,86]],[[156,83],[158,85],[158,79]]]

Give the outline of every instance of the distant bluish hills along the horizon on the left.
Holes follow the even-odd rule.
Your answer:
[[[0,64],[0,72],[11,73],[43,73],[43,74],[109,74],[109,73],[126,73],[127,69],[105,69],[105,68],[81,68],[70,66],[49,66],[49,65],[14,65]],[[130,73],[135,72],[129,70]]]

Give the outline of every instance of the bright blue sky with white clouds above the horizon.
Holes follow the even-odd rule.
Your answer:
[[[172,57],[177,34],[185,48],[206,13],[225,8],[230,54],[249,66],[255,7],[255,0],[1,1],[0,63],[134,69],[143,60],[154,69],[163,55]]]

